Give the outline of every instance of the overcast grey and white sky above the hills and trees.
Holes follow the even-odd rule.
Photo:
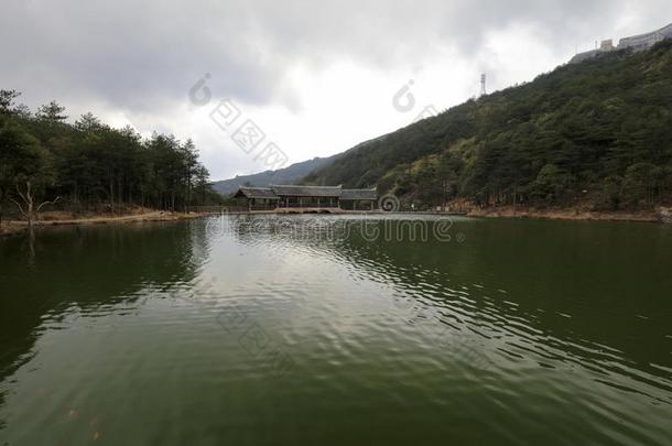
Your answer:
[[[268,142],[330,155],[477,95],[480,73],[505,88],[672,22],[670,0],[1,1],[0,88],[192,138],[216,180],[263,171]],[[210,119],[226,98],[265,135],[249,154]]]

